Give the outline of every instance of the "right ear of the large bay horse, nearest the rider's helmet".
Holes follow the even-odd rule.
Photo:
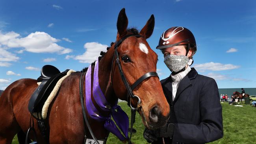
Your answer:
[[[149,38],[153,33],[154,26],[155,26],[155,17],[154,15],[151,15],[151,17],[147,21],[147,24],[142,28],[139,34],[143,35],[146,39]]]

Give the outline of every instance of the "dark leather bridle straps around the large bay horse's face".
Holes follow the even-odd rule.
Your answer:
[[[145,79],[149,78],[149,77],[152,77],[152,76],[157,76],[158,77],[158,74],[156,72],[148,72],[146,74],[144,74],[143,76],[141,76],[139,79],[137,79],[137,81],[135,81],[134,84],[132,84],[132,86],[129,85],[127,79],[125,78],[125,75],[124,75],[124,72],[122,70],[122,67],[121,67],[121,63],[120,63],[120,60],[119,60],[119,55],[118,55],[118,52],[117,52],[117,48],[118,46],[122,43],[122,41],[124,41],[125,39],[127,39],[128,37],[143,37],[142,35],[139,35],[139,34],[130,34],[130,35],[126,35],[124,37],[122,37],[122,39],[120,39],[119,41],[115,42],[115,54],[113,56],[113,60],[112,60],[112,66],[111,66],[111,82],[112,82],[112,68],[113,68],[113,62],[114,62],[114,59],[115,59],[115,55],[117,55],[117,58],[115,59],[117,65],[118,65],[118,68],[119,68],[119,73],[121,75],[121,78],[122,78],[122,81],[127,89],[127,102],[128,102],[128,106],[131,107],[131,128],[129,128],[129,133],[130,133],[130,138],[129,138],[129,143],[128,144],[131,144],[131,137],[132,137],[132,133],[135,133],[136,130],[133,129],[133,124],[135,122],[135,114],[136,114],[136,110],[140,107],[141,105],[141,99],[139,98],[139,96],[136,96],[132,90],[134,90],[142,81],[144,81]],[[159,77],[158,77],[159,78]],[[131,103],[131,100],[132,98],[137,98],[138,99],[138,102],[137,102],[137,106],[136,107],[133,107],[132,106],[132,103]],[[130,104],[130,105],[129,105]]]

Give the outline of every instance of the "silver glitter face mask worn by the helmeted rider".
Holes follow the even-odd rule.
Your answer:
[[[189,59],[185,55],[167,55],[163,62],[172,72],[178,72],[187,65]]]

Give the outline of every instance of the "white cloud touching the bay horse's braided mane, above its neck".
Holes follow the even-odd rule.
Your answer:
[[[82,55],[77,55],[74,59],[79,60],[80,63],[92,63],[100,56],[100,51],[106,51],[107,45],[98,42],[87,42],[83,46],[86,51]]]

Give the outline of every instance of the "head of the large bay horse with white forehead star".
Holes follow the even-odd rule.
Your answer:
[[[122,9],[117,20],[117,39],[120,41],[127,35],[140,35],[140,37],[131,36],[124,39],[117,48],[117,55],[120,59],[120,65],[129,85],[133,85],[141,76],[148,72],[156,72],[156,63],[158,55],[150,48],[146,39],[152,35],[154,30],[154,15],[148,19],[146,25],[141,31],[128,29],[128,18],[125,10]],[[136,107],[142,117],[143,123],[150,129],[162,126],[169,118],[170,107],[163,93],[160,80],[157,76],[144,79],[132,92],[139,98],[128,100],[128,90],[120,75],[118,64],[115,61],[115,44],[112,44],[108,52],[99,62],[104,65],[102,70],[110,70],[108,77],[108,87],[112,87],[113,94],[121,100],[130,101],[132,107]],[[111,62],[111,63],[109,63]],[[107,64],[108,63],[108,64]],[[101,72],[104,75],[103,72]],[[100,72],[99,72],[100,75]],[[105,81],[107,81],[105,79]],[[108,90],[108,93],[111,93]],[[106,94],[106,96],[109,94]],[[107,98],[110,100],[110,98]],[[140,99],[140,103],[138,101]]]

